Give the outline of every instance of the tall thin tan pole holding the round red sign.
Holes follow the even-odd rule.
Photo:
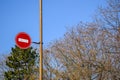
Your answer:
[[[43,80],[43,35],[42,35],[42,0],[40,0],[40,59],[39,59],[39,80]]]

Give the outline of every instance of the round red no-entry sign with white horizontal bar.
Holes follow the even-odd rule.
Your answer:
[[[20,32],[15,37],[17,46],[21,49],[27,49],[31,44],[30,36],[25,32]]]

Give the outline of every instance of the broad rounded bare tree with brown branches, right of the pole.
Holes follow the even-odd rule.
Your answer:
[[[51,44],[46,51],[47,54],[45,53],[47,58],[44,58],[49,59],[46,61],[46,66],[53,75],[51,79],[113,78],[112,73],[117,64],[114,64],[114,55],[106,52],[113,50],[109,45],[112,45],[114,40],[110,37],[109,31],[100,27],[95,23],[80,23],[77,27],[68,30],[62,39]]]

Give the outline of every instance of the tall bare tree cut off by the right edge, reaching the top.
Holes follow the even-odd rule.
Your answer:
[[[100,21],[104,24],[104,29],[109,32],[112,43],[107,45],[111,48],[107,53],[112,55],[111,73],[113,80],[120,79],[120,0],[107,0],[107,7],[100,8]]]

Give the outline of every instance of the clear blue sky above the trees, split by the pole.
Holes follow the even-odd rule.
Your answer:
[[[66,27],[89,22],[105,0],[43,0],[43,42],[59,39]],[[39,41],[39,0],[0,0],[0,54],[9,53],[19,32]]]

